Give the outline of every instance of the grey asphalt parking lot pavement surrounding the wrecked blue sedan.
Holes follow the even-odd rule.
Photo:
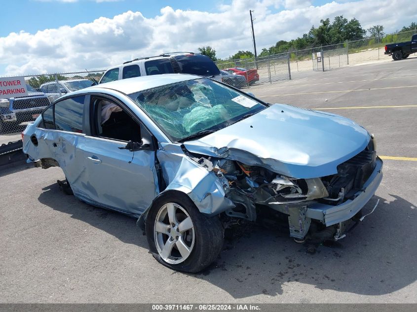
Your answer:
[[[135,219],[61,193],[59,168],[20,168],[0,176],[0,302],[416,303],[417,57],[295,72],[249,91],[375,135],[384,178],[365,209],[379,206],[346,238],[310,254],[288,232],[254,226],[208,270],[173,272]]]

